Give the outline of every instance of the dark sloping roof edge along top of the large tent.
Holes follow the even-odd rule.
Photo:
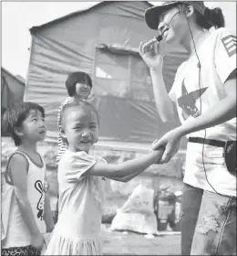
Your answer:
[[[57,19],[51,20],[51,21],[49,21],[49,22],[47,22],[47,23],[45,23],[43,25],[36,26],[36,27],[31,27],[29,29],[30,34],[34,35],[34,34],[36,34],[36,32],[40,31],[41,29],[46,28],[46,27],[51,26],[51,25],[54,25],[57,22],[60,22],[62,20],[65,20],[65,19],[73,17],[73,16],[77,16],[78,14],[87,13],[91,9],[94,9],[94,8],[98,7],[98,5],[99,6],[100,5],[108,5],[108,3],[115,3],[115,2],[118,2],[118,1],[101,1],[100,3],[98,3],[96,5],[92,5],[92,6],[89,6],[88,8],[81,9],[81,10],[78,10],[76,12],[70,13],[67,16],[58,17]],[[153,6],[151,3],[149,3],[149,1],[139,1],[139,2],[146,2],[148,5],[150,5],[150,7]]]

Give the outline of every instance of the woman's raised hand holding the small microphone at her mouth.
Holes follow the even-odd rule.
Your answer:
[[[139,55],[149,66],[149,69],[161,69],[163,66],[164,46],[163,42],[150,40],[139,44]]]

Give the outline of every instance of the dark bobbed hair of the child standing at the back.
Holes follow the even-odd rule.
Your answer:
[[[75,96],[77,83],[88,84],[92,88],[92,80],[88,73],[82,71],[70,73],[66,80],[67,92],[70,97]]]

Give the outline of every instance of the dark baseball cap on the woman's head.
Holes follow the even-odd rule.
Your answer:
[[[145,12],[145,20],[149,28],[158,29],[159,16],[167,9],[170,9],[172,5],[187,4],[192,5],[193,8],[204,16],[206,6],[203,1],[164,1],[161,5],[150,7]]]

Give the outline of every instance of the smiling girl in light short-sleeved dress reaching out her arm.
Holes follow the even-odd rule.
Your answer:
[[[58,164],[59,215],[46,255],[102,255],[103,177],[127,182],[158,163],[163,150],[118,165],[90,155],[98,141],[98,112],[87,101],[63,108],[62,133],[68,149]]]

